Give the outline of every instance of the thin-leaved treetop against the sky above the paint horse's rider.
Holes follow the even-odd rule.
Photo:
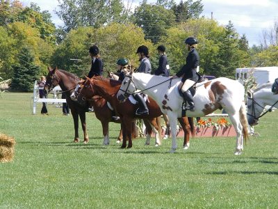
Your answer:
[[[179,4],[174,4],[171,8],[176,15],[176,22],[185,22],[189,19],[197,19],[199,15],[203,12],[202,0],[194,1],[188,0],[183,2],[182,0]]]

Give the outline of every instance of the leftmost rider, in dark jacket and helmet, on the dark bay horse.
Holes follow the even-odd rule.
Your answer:
[[[93,76],[102,75],[104,64],[99,56],[99,48],[96,45],[93,45],[89,49],[89,54],[92,57],[92,65],[88,77],[92,78]]]

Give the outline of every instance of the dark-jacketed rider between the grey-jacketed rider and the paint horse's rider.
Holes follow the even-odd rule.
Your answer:
[[[154,71],[154,75],[162,75],[165,77],[170,77],[170,68],[167,61],[167,56],[165,54],[166,48],[163,45],[157,47],[158,54],[160,55],[158,61],[158,68]]]

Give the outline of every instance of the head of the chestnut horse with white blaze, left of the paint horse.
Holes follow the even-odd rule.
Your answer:
[[[85,104],[86,100],[90,100],[90,98],[95,95],[93,83],[93,79],[86,77],[86,79],[79,84],[79,94],[77,96],[77,101],[79,102],[79,104]]]

